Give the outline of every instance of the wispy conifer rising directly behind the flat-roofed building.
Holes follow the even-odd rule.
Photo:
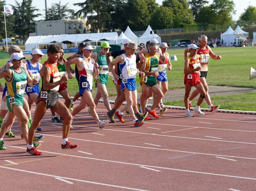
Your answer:
[[[69,9],[68,3],[65,5],[61,5],[61,2],[52,3],[51,7],[47,9],[45,20],[61,20],[63,17],[74,19],[75,11],[73,9]]]

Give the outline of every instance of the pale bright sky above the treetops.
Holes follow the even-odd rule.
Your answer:
[[[22,2],[22,0],[16,0],[18,3]],[[59,3],[60,0],[46,0],[47,1],[47,7],[51,7],[51,3]],[[74,6],[73,3],[81,3],[81,2],[84,2],[85,0],[73,0],[72,3],[69,3],[70,0],[61,0],[61,4],[64,5],[66,3],[69,3],[68,6],[69,8],[71,9],[74,9],[75,11],[78,11],[80,9],[80,7],[78,6]],[[156,2],[158,4],[162,4],[162,1],[163,0],[156,0]],[[212,3],[212,0],[208,0],[209,1],[209,4]],[[8,3],[9,4],[16,4],[15,3],[15,0],[7,0],[7,7],[8,7]],[[251,5],[251,6],[255,6],[256,7],[256,1],[255,0],[233,0],[233,2],[235,3],[235,9],[236,9],[236,14],[233,15],[233,20],[238,20],[239,19],[239,16],[242,12],[244,12],[244,9],[248,7],[248,5]],[[250,3],[249,3],[250,2]],[[37,9],[40,9],[40,12],[41,14],[45,14],[45,12],[43,11],[43,9],[45,9],[45,1],[44,0],[41,0],[41,1],[38,1],[38,0],[33,0],[32,1],[32,5],[33,6],[36,6]],[[43,17],[37,17],[35,20],[40,20],[40,19],[43,19]]]

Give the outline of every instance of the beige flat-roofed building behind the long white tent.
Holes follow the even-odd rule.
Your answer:
[[[86,27],[87,20],[81,20],[77,18],[77,20],[48,20],[48,21],[36,21],[36,36],[39,35],[58,35],[58,34],[77,34],[77,30],[80,33],[84,33],[84,29],[86,29],[86,33],[89,33],[89,27]]]

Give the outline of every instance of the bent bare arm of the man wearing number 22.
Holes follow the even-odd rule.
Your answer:
[[[68,81],[67,75],[63,75],[59,81],[54,83],[50,83],[51,79],[51,68],[49,66],[44,65],[41,69],[41,75],[44,76],[44,90],[48,91],[53,89],[54,87],[66,83]]]

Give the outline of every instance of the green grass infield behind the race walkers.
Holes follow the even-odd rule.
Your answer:
[[[256,47],[224,47],[224,48],[212,48],[212,51],[216,55],[221,55],[221,60],[209,61],[209,71],[207,75],[208,85],[221,85],[221,86],[236,86],[236,87],[252,87],[256,88],[256,79],[250,81],[250,68],[251,66],[256,68],[255,58]],[[176,88],[184,88],[184,49],[168,50],[169,55],[176,55],[177,61],[171,61],[172,71],[167,71],[168,76],[168,89],[171,91]],[[70,55],[65,55],[65,58]],[[27,58],[30,58],[27,57]],[[46,61],[47,56],[44,56],[41,63]],[[6,64],[8,59],[1,59],[0,66]],[[0,79],[0,82],[4,84],[4,79]],[[139,78],[137,76],[138,92],[141,92],[139,85]],[[68,89],[70,96],[78,91],[77,81],[75,79],[68,81]],[[96,88],[93,87],[93,96],[95,95]],[[109,96],[116,95],[115,85],[112,82],[112,77],[109,77],[107,84],[107,90]],[[221,105],[221,109],[230,110],[246,110],[256,111],[255,100],[256,92],[246,93],[240,95],[231,96],[218,96],[211,97],[213,103]],[[183,100],[165,102],[166,105],[184,106]],[[203,102],[202,106],[208,108],[206,102]]]

